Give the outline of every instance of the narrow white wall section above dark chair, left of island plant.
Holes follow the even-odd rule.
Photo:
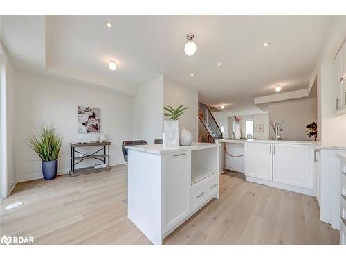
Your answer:
[[[163,76],[139,86],[132,100],[131,139],[154,144],[163,137]]]

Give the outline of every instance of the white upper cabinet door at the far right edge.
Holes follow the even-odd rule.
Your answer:
[[[342,51],[339,51],[334,60],[334,112],[338,112],[341,107],[345,107],[345,94],[342,95],[342,84],[340,78],[343,75],[342,69]]]

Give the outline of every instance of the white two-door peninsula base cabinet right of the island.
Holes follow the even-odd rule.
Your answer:
[[[246,143],[246,180],[315,196],[309,144]]]

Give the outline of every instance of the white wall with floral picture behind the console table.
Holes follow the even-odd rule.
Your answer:
[[[77,106],[100,107],[102,132],[111,141],[110,164],[123,163],[122,141],[131,137],[131,98],[121,96],[99,86],[75,80],[48,78],[16,71],[15,114],[12,116],[15,132],[15,166],[17,180],[42,177],[39,157],[24,141],[39,128],[42,121],[53,122],[64,135],[58,173],[70,168],[70,142],[89,141],[93,135],[78,134]],[[93,159],[81,166],[92,166]]]

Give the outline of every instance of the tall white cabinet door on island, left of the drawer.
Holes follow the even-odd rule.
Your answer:
[[[190,152],[163,156],[162,187],[164,234],[190,213]]]

